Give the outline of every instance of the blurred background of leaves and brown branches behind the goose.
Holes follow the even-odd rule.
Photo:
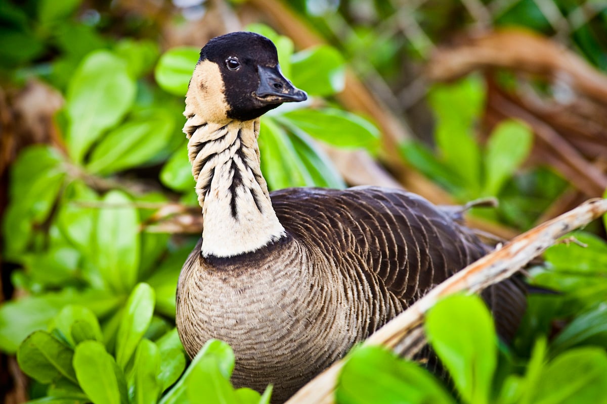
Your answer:
[[[139,338],[171,332],[201,230],[183,99],[214,36],[273,39],[285,76],[311,95],[262,119],[271,189],[497,197],[469,223],[509,239],[607,188],[605,0],[0,0],[0,23],[5,403],[47,394],[14,354],[68,304],[97,317],[111,353],[145,282],[154,298]],[[604,224],[580,237],[605,263]],[[561,280],[546,283],[581,290]]]

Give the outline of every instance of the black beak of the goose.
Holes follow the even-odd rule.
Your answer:
[[[305,91],[299,90],[285,76],[280,73],[279,65],[276,67],[257,67],[259,71],[259,87],[257,97],[268,104],[282,102],[299,102],[308,99]]]

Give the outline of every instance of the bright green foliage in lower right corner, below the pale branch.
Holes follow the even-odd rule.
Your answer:
[[[463,403],[607,402],[607,353],[602,346],[560,351],[558,337],[551,345],[540,337],[523,366],[510,363],[508,373],[498,377],[498,337],[480,297],[455,295],[441,300],[427,315],[426,334]],[[560,337],[572,341],[566,331]],[[510,352],[499,358],[513,360]],[[421,366],[384,348],[367,346],[348,356],[336,397],[344,404],[458,402],[448,391]]]

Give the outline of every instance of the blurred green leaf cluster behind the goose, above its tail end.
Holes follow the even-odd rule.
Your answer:
[[[529,228],[566,187],[546,168],[519,173],[531,152],[531,130],[520,121],[500,122],[484,146],[476,139],[485,89],[480,78],[467,76],[453,84],[437,84],[429,94],[436,115],[436,153],[419,141],[401,145],[404,159],[459,202],[494,196],[500,206],[475,211],[497,222]]]

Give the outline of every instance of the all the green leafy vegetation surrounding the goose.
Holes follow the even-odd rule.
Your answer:
[[[242,7],[237,3],[231,6]],[[388,2],[364,3],[378,21],[395,12]],[[554,2],[573,10],[569,3]],[[316,22],[334,47],[296,52],[290,38],[266,25],[246,28],[273,39],[285,76],[312,96],[262,120],[262,170],[271,189],[345,187],[319,146],[324,143],[364,148],[373,156],[397,153],[459,202],[498,197],[500,208],[474,214],[517,231],[532,227],[571,191],[572,181],[554,168],[523,167],[536,142],[537,128],[528,122],[499,119],[480,141],[479,122],[492,91],[481,75],[429,89],[433,147],[410,140],[398,151],[385,150],[382,122],[345,110],[336,97],[346,66],[363,76],[375,70],[396,88],[402,55],[423,59],[430,50],[418,37],[386,39],[354,24],[350,2],[336,4],[293,3],[299,18]],[[514,21],[552,33],[534,4],[520,1],[494,23]],[[453,1],[447,8],[457,7]],[[209,341],[188,365],[174,328],[177,277],[199,236],[171,234],[163,224],[178,223],[175,211],[183,213],[184,206],[197,207],[180,128],[202,44],[161,50],[160,18],[101,2],[30,0],[17,6],[0,0],[0,10],[2,88],[52,88],[49,94],[64,100],[45,128],[58,136],[22,148],[10,161],[2,213],[2,282],[10,282],[5,290],[14,294],[0,308],[0,350],[16,354],[31,378],[32,402],[269,402],[271,386],[262,394],[232,387],[234,355],[223,342]],[[437,40],[449,18],[433,14],[431,5],[420,12],[432,28],[430,39]],[[607,9],[598,16],[604,21]],[[177,20],[162,24],[185,24]],[[344,40],[336,31],[347,24],[354,33]],[[605,44],[594,30],[594,20],[583,24],[572,43],[604,70]],[[512,82],[507,73],[504,87]],[[3,139],[2,145],[8,143]],[[337,401],[607,402],[605,233],[593,225],[573,236],[577,241],[550,248],[545,265],[530,270],[533,285],[558,293],[530,296],[512,346],[498,341],[480,299],[450,297],[430,311],[426,333],[451,382],[381,348],[359,347],[339,377]]]

